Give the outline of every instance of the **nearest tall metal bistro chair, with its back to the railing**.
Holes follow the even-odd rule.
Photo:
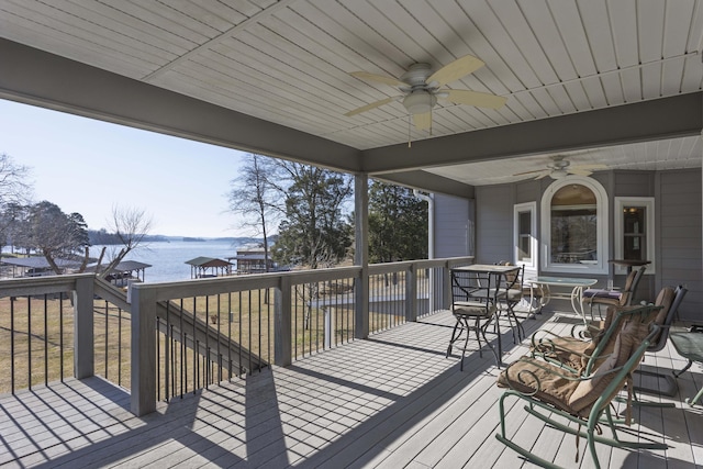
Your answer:
[[[461,350],[460,370],[464,370],[464,357],[469,350],[471,332],[476,333],[479,356],[483,357],[481,337],[483,343],[491,348],[495,356],[495,362],[501,366],[495,347],[486,337],[486,330],[495,317],[498,311],[496,276],[489,272],[468,272],[451,270],[451,313],[456,319],[447,357],[451,355],[455,344],[464,337],[464,344],[458,347]],[[500,337],[499,337],[500,339]]]

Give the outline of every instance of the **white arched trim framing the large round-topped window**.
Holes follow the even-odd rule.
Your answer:
[[[551,253],[551,198],[565,186],[581,185],[593,191],[595,196],[596,213],[598,213],[598,233],[596,233],[596,264],[557,264],[551,263],[549,253]],[[555,180],[545,191],[542,203],[542,230],[540,230],[540,250],[542,250],[542,270],[547,272],[562,273],[607,273],[609,272],[609,245],[607,245],[607,193],[599,181],[584,176],[567,176],[566,178]]]

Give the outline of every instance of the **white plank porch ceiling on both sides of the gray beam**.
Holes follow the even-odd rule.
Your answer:
[[[698,92],[702,26],[700,0],[0,0],[1,37],[361,150]],[[503,108],[440,100],[431,132],[395,101],[344,115],[399,93],[350,71],[400,77],[467,54],[486,66],[447,87],[505,97]],[[700,167],[701,147],[690,137],[577,157]],[[433,171],[511,180],[487,165],[473,171],[482,179]]]

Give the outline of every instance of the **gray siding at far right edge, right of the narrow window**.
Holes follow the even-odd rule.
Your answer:
[[[659,175],[657,287],[685,284],[689,292],[681,303],[679,316],[682,321],[698,323],[703,323],[701,198],[700,169]]]

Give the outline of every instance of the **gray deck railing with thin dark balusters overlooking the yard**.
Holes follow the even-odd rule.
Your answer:
[[[102,375],[131,390],[132,411],[142,415],[157,400],[447,308],[448,269],[471,261],[134,283],[126,294],[93,275],[2,280],[0,392]]]

